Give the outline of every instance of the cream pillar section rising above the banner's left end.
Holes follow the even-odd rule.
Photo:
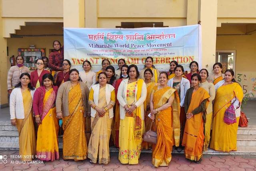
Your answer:
[[[84,0],[63,0],[64,27],[84,27]]]

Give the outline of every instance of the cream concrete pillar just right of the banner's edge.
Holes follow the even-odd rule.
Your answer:
[[[202,68],[212,71],[216,61],[217,1],[199,0],[198,16],[202,26]]]

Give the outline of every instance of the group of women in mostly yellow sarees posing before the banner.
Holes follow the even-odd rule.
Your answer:
[[[152,148],[155,167],[170,163],[173,147],[179,152],[184,148],[186,159],[196,163],[209,145],[218,151],[236,150],[243,93],[234,72],[222,74],[222,65],[216,63],[213,74],[208,74],[206,69],[198,71],[193,61],[191,74],[184,76],[184,68],[176,61],[170,63],[168,73],[159,73],[153,64],[152,57],[146,58],[139,72],[136,65],[128,66],[120,59],[115,70],[104,59],[102,70],[94,73],[89,61],[78,72],[62,60],[62,71],[54,79],[55,73],[42,70],[44,61],[37,60],[34,74],[20,73],[10,95],[20,155],[58,159],[59,125],[64,130],[64,160],[88,157],[90,163],[108,164],[110,141],[119,148],[123,164],[138,164],[141,150]],[[143,141],[152,122],[156,144]]]

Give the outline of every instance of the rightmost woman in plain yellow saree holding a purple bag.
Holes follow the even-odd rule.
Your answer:
[[[224,152],[236,151],[240,105],[243,99],[242,87],[234,80],[234,72],[226,70],[224,80],[218,82],[215,89],[210,148]],[[229,113],[229,109],[234,112]],[[226,117],[232,119],[232,123],[224,122]]]

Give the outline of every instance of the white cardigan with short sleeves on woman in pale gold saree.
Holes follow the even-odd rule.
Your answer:
[[[99,101],[99,91],[100,91],[100,84],[96,84],[96,85],[92,85],[92,89],[94,91],[93,93],[93,101],[95,103],[96,106],[98,106],[98,101]],[[114,90],[115,88],[110,85],[110,84],[106,84],[106,102],[107,104],[111,101],[111,92]],[[94,110],[91,107],[91,117],[95,117],[96,114],[96,110]],[[109,118],[114,117],[114,110],[113,107],[111,109],[109,109]]]

